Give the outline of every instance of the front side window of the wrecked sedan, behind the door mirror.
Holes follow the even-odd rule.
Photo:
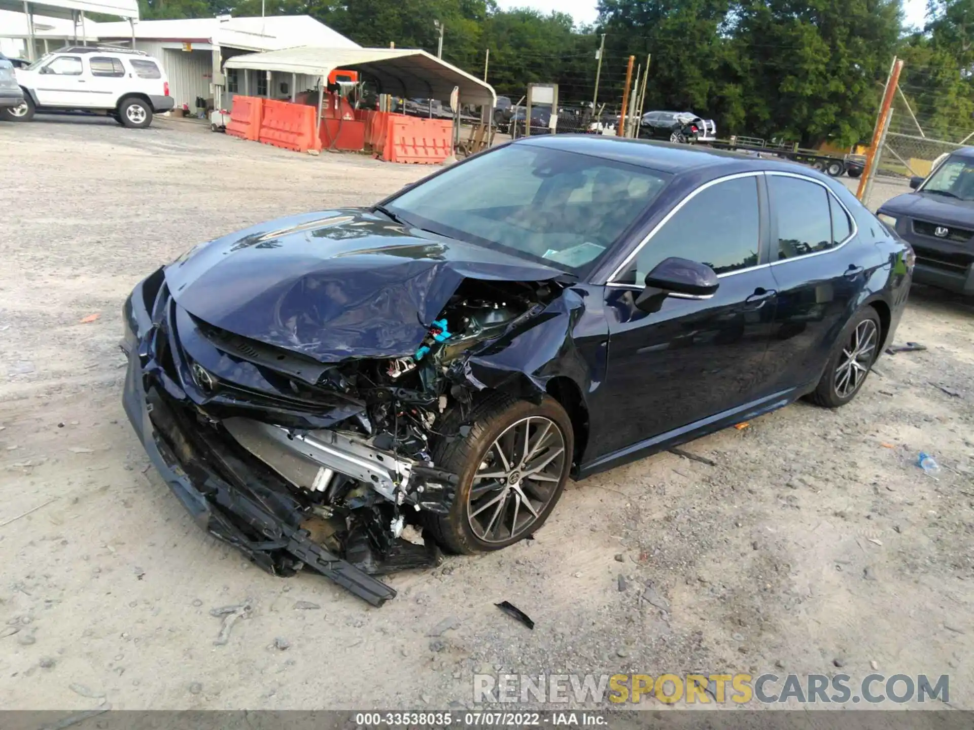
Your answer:
[[[663,259],[679,256],[727,274],[758,264],[757,176],[717,183],[693,197],[636,254],[616,283],[642,285]]]

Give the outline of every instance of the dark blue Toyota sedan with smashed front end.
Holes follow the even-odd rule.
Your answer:
[[[570,476],[848,403],[913,266],[804,167],[522,139],[149,275],[124,403],[202,527],[380,605],[377,575],[533,534]]]

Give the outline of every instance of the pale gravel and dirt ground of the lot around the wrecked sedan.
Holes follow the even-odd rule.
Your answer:
[[[570,484],[535,540],[393,576],[398,598],[373,609],[267,575],[190,520],[122,411],[120,308],[199,240],[366,204],[429,168],[162,120],[0,125],[0,150],[0,706],[442,709],[471,705],[477,671],[841,665],[949,674],[951,706],[974,709],[969,302],[916,287],[897,339],[928,350],[880,359],[852,405],[686,447],[716,466],[662,454]],[[210,609],[244,601],[214,645]]]

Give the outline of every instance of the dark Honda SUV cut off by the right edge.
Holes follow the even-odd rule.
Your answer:
[[[957,150],[877,215],[917,253],[914,281],[974,295],[974,147]]]

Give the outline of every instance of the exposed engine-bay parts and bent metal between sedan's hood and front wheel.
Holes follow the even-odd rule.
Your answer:
[[[423,528],[422,511],[445,513],[452,503],[457,475],[438,469],[431,455],[437,440],[466,433],[466,409],[486,387],[469,372],[467,356],[543,310],[552,287],[558,289],[468,279],[413,354],[342,362],[316,371],[314,384],[291,380],[296,396],[312,400],[320,390],[358,405],[328,428],[244,417],[222,426],[307,494],[312,508],[302,527],[329,550],[370,574],[435,565],[439,552],[431,540],[417,544],[402,535],[409,526]],[[278,367],[290,359],[277,358]],[[297,359],[289,363],[294,370]],[[219,387],[199,365],[194,375]],[[415,540],[418,532],[410,532]]]

